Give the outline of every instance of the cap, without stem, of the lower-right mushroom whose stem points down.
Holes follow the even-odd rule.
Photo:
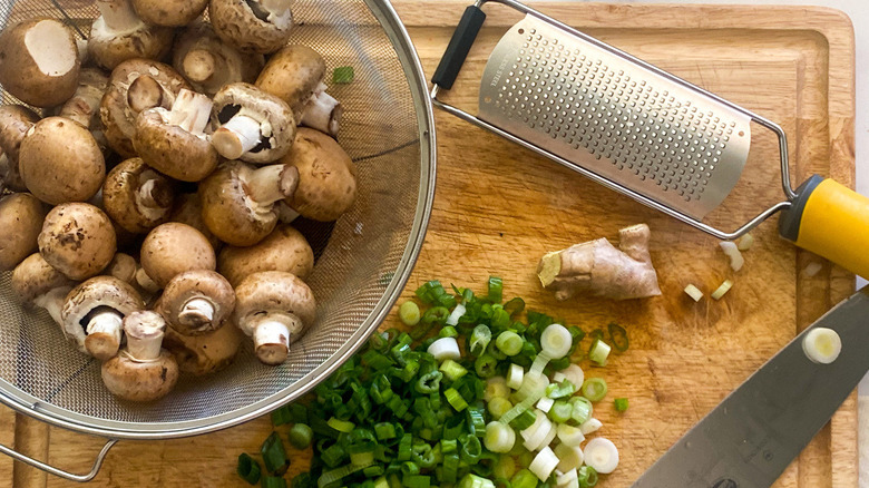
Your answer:
[[[267,313],[295,315],[306,329],[316,316],[314,293],[292,273],[261,271],[251,274],[235,287],[235,323],[250,335],[251,322]],[[302,332],[304,329],[295,335]],[[293,339],[290,338],[290,342]]]

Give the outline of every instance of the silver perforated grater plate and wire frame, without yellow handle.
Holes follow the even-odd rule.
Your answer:
[[[517,1],[478,0],[475,8],[490,1],[525,18],[489,56],[479,115],[439,100],[452,80],[439,82],[438,74],[436,107],[721,240],[790,207],[795,192],[780,126]],[[442,62],[455,61],[449,56],[450,48]],[[719,230],[702,219],[739,180],[752,121],[778,137],[787,199],[736,230]]]

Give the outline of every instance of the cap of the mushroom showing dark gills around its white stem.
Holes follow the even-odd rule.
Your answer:
[[[235,115],[246,115],[260,121],[263,141],[244,153],[240,159],[252,164],[267,164],[286,155],[293,146],[296,119],[282,99],[256,88],[235,82],[221,88],[214,96],[217,121],[226,124]]]

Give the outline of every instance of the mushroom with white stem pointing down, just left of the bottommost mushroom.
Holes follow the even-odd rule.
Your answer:
[[[106,361],[118,353],[123,319],[145,306],[138,292],[115,276],[94,276],[64,303],[64,330],[78,350]]]

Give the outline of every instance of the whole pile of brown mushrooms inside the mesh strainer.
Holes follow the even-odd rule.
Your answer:
[[[43,18],[0,32],[21,101],[0,107],[0,271],[120,399],[226,368],[245,335],[281,364],[314,323],[291,223],[336,219],[357,180],[290,3],[97,0],[84,42]]]

